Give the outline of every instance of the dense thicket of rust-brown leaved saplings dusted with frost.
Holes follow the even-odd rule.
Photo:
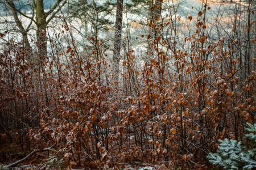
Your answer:
[[[101,39],[88,37],[90,53],[79,53],[72,41],[43,61],[10,42],[0,54],[0,143],[53,147],[69,168],[116,168],[159,160],[186,166],[204,162],[218,139],[243,140],[245,122],[256,121],[256,70],[243,73],[236,40],[208,41],[209,9],[199,12],[194,34],[184,39],[189,52],[161,36],[173,22],[151,21],[154,57],[138,66],[134,50],[127,50],[118,89],[114,75],[106,75]]]

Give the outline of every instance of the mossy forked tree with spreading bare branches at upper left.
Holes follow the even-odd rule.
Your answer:
[[[31,8],[32,16],[26,15],[21,10],[19,10],[19,3],[16,3],[13,0],[5,0],[2,3],[5,3],[6,8],[11,10],[11,14],[14,17],[15,23],[19,28],[20,33],[22,33],[22,39],[24,44],[27,47],[30,47],[30,42],[28,41],[28,31],[31,29],[32,23],[36,25],[36,39],[38,40],[38,50],[40,56],[47,55],[47,45],[46,45],[46,28],[49,22],[55,17],[57,12],[67,3],[66,0],[57,0],[55,4],[46,12],[44,7],[44,0],[32,0],[27,1],[26,6]],[[25,25],[22,23],[18,15],[25,17],[30,20],[30,23],[25,28]]]

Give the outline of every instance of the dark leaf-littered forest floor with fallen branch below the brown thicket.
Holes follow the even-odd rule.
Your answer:
[[[30,146],[30,151],[22,150],[20,145],[17,143],[10,143],[10,142],[1,142],[0,143],[0,170],[5,170],[1,167],[1,165],[10,165],[18,160],[23,159],[28,154],[30,154],[34,149],[35,146]],[[23,146],[24,148],[28,148],[26,146]],[[123,169],[123,170],[154,170],[154,169],[201,169],[206,170],[209,169],[205,164],[202,163],[194,163],[191,164],[191,167],[187,168],[167,168],[168,164],[166,162],[158,161],[154,162],[154,164],[150,162],[130,162],[130,163],[118,163],[118,160],[116,160],[118,164],[117,169]],[[2,168],[2,169],[1,169]],[[116,168],[108,168],[108,167],[100,167],[101,169],[116,169]],[[89,163],[89,164],[81,164],[79,166],[76,166],[76,168],[71,168],[67,166],[67,163],[61,159],[58,158],[54,152],[51,151],[44,151],[44,152],[36,152],[34,155],[30,156],[30,158],[24,160],[22,163],[19,163],[15,167],[11,167],[8,169],[11,170],[43,170],[43,169],[79,169],[79,170],[85,170],[85,169],[100,169],[95,164]]]

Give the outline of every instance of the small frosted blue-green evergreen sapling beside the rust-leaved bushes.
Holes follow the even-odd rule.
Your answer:
[[[251,125],[247,123],[249,128],[247,131],[251,132],[246,134],[246,137],[252,139],[252,145],[256,144],[256,124]],[[221,166],[225,169],[255,169],[256,168],[256,148],[247,150],[241,146],[241,142],[235,140],[224,139],[218,140],[217,153],[210,153],[207,158],[209,162],[214,165]]]

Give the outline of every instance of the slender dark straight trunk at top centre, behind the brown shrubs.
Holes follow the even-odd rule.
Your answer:
[[[119,72],[119,57],[121,49],[121,33],[122,33],[122,12],[123,0],[117,0],[117,15],[115,18],[115,42],[114,42],[114,55],[113,55],[113,70],[114,80],[118,82]]]

